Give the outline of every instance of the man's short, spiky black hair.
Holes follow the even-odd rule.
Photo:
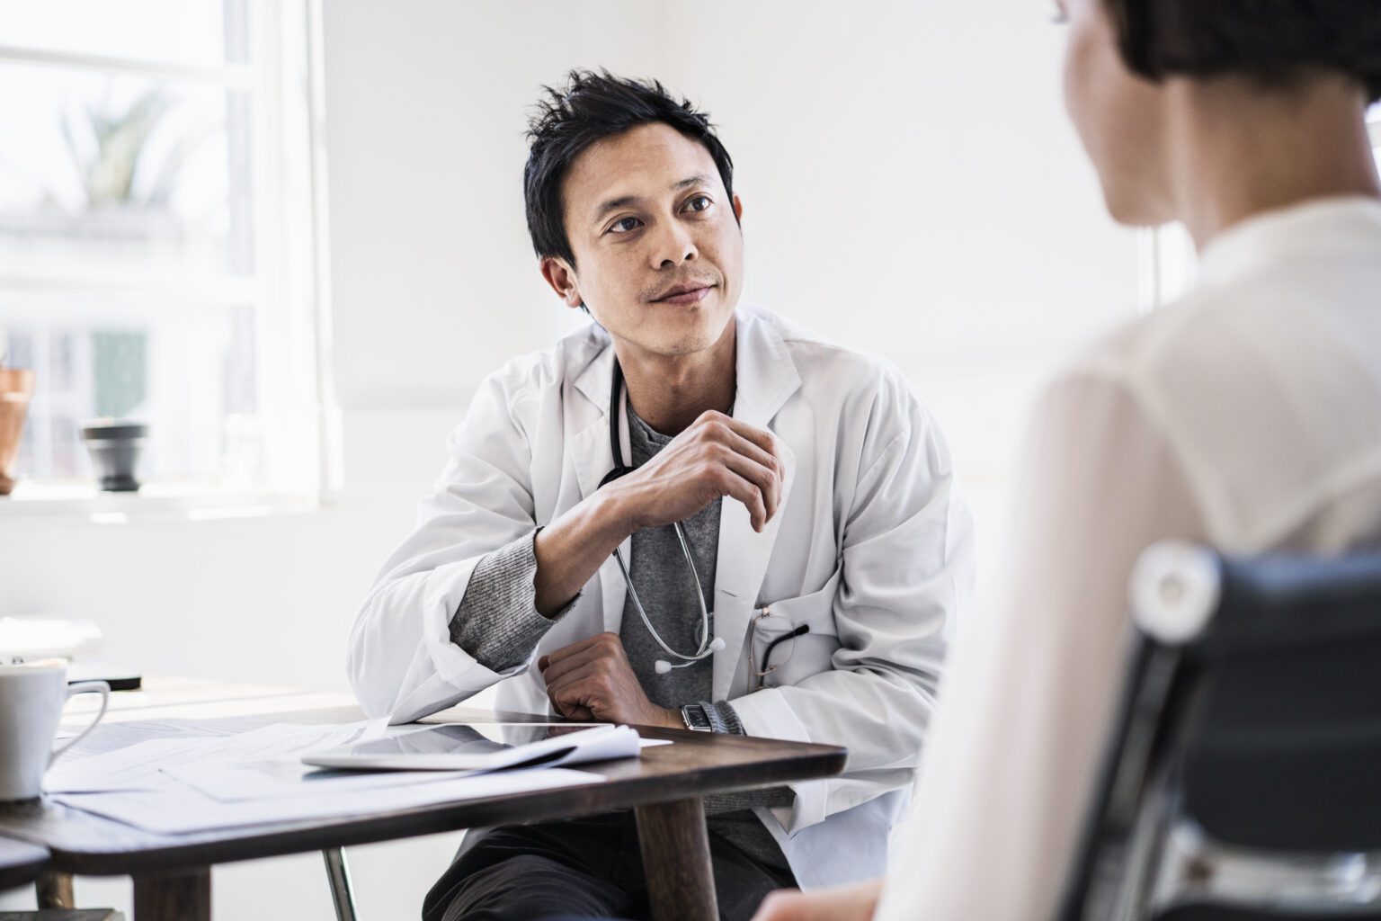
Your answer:
[[[570,164],[595,141],[652,123],[668,124],[710,152],[724,191],[733,199],[733,160],[706,112],[679,102],[657,80],[631,80],[608,70],[572,70],[563,87],[543,87],[543,98],[528,123],[528,166],[523,197],[532,249],[570,265],[576,254],[566,235],[562,184]]]

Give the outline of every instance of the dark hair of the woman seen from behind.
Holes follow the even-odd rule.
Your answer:
[[[1131,70],[1149,80],[1242,73],[1288,86],[1326,69],[1381,98],[1377,0],[1103,0]]]

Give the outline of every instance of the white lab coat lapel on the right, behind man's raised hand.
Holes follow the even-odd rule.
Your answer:
[[[739,312],[737,394],[733,417],[757,428],[772,429],[772,420],[801,387],[795,363],[776,327],[768,320]],[[721,500],[720,550],[714,577],[714,634],[725,648],[714,655],[714,699],[728,700],[733,675],[743,657],[749,623],[757,606],[762,577],[776,545],[783,511],[795,482],[795,454],[784,439],[778,450],[786,468],[782,504],[762,533],[753,530],[749,510],[733,498]]]

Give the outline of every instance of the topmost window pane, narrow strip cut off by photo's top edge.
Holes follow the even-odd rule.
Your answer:
[[[249,59],[247,0],[0,0],[3,44],[168,64]]]

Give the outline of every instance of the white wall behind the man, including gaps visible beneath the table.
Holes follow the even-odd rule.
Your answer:
[[[536,275],[525,116],[576,65],[700,101],[746,204],[747,297],[911,377],[981,526],[1034,377],[1135,312],[1033,0],[327,0],[336,507],[221,522],[0,515],[0,614],[93,617],[148,671],[345,689],[345,632],[442,439],[504,356],[579,322]],[[352,852],[365,918],[413,917],[454,835]],[[128,909],[127,886],[79,898]],[[25,896],[0,896],[0,907]],[[315,856],[215,874],[220,917],[330,917]]]

